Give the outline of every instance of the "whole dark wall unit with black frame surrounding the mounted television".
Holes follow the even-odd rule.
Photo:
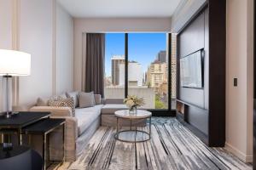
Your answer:
[[[177,106],[186,105],[185,108],[188,108],[184,111],[184,117],[187,118],[183,121],[188,124],[189,129],[205,133],[206,137],[195,134],[202,141],[207,141],[206,144],[209,146],[224,147],[226,1],[208,0],[207,6],[201,13],[199,11],[189,25],[178,33],[177,40],[179,57],[201,48],[205,50],[204,88],[185,89],[177,83],[179,87],[177,88]],[[178,65],[177,74],[179,74]]]

